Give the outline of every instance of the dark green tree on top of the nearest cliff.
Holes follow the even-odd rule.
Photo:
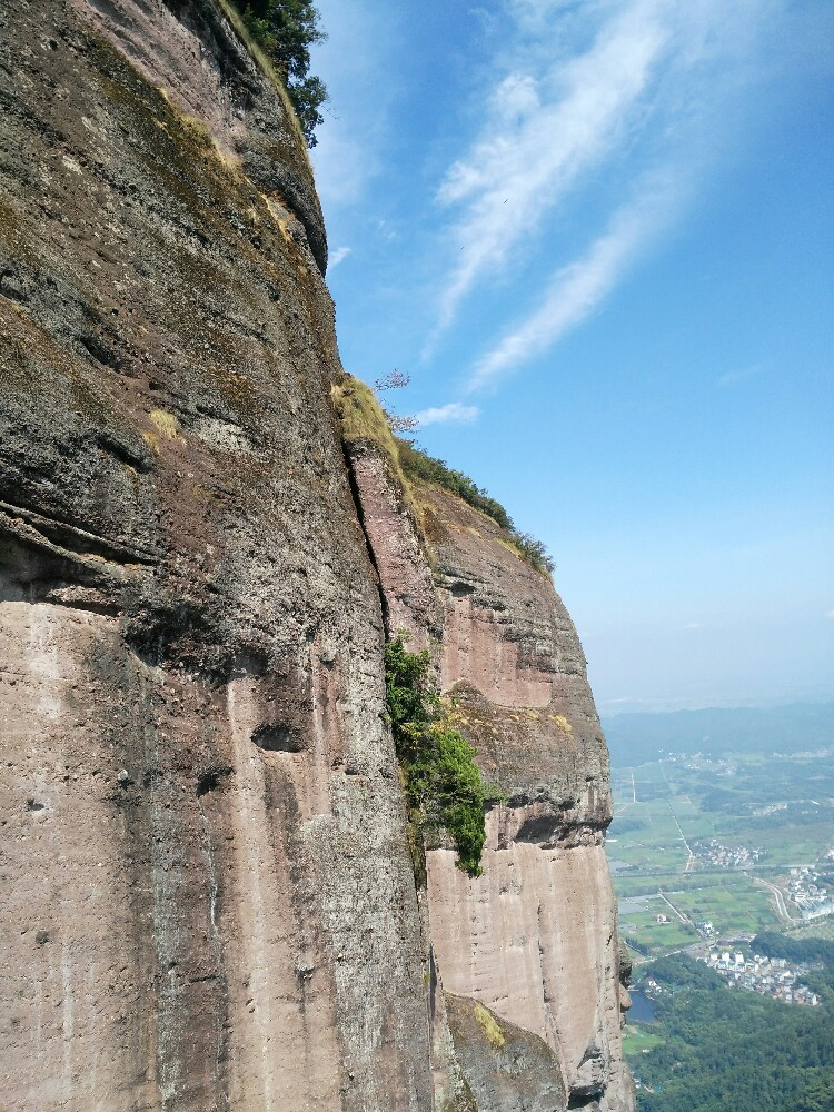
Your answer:
[[[316,128],[324,121],[319,108],[327,100],[321,78],[311,77],[310,47],[327,34],[319,26],[319,13],[311,0],[249,0],[244,22],[250,34],[267,51],[281,71],[289,99],[308,147],[316,146]]]

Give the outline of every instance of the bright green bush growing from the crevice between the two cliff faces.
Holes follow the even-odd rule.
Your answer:
[[[499,794],[483,780],[473,746],[445,717],[428,649],[409,653],[398,634],[385,647],[385,686],[409,813],[424,834],[446,831],[459,867],[479,876],[485,804]]]

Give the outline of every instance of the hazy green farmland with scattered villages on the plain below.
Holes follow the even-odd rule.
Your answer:
[[[788,870],[818,865],[834,843],[833,754],[666,755],[613,768],[612,783],[607,853],[635,961],[757,931],[834,926],[802,924],[787,900]],[[704,848],[709,840],[751,860],[722,864]],[[787,900],[781,907],[774,886]],[[696,929],[704,922],[715,932],[707,939]]]

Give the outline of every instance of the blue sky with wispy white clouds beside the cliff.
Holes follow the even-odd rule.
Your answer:
[[[318,7],[342,361],[548,545],[603,713],[834,697],[834,4]]]

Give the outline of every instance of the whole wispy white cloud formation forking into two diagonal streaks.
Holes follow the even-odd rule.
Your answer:
[[[480,133],[437,193],[453,214],[445,236],[454,259],[428,349],[477,286],[524,267],[542,244],[558,251],[553,221],[564,219],[579,189],[605,180],[609,215],[595,212],[607,230],[555,268],[539,306],[480,360],[470,387],[558,341],[668,226],[687,178],[719,147],[723,98],[749,80],[756,36],[784,3],[595,0],[582,19],[563,0],[507,0],[507,8],[515,30],[505,53],[516,63],[496,82]],[[651,201],[645,182],[664,176],[653,210],[639,195]],[[610,197],[623,193],[637,199],[612,212]]]

